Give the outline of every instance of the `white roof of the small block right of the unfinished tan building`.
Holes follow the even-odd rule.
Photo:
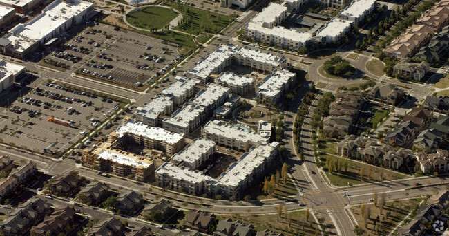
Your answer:
[[[172,160],[177,162],[193,163],[201,158],[201,155],[207,153],[216,143],[205,138],[196,138],[193,143],[188,145],[183,151],[173,155]]]

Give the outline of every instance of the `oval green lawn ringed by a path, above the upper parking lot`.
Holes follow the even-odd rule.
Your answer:
[[[142,29],[151,29],[151,27],[160,29],[177,16],[178,13],[172,9],[149,6],[140,8],[140,10],[132,10],[126,14],[126,21]]]

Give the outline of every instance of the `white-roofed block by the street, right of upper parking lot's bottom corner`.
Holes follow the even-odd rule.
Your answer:
[[[200,81],[194,78],[176,76],[175,82],[170,83],[166,89],[162,89],[161,94],[173,98],[173,103],[180,106],[195,94],[195,85],[199,83]]]

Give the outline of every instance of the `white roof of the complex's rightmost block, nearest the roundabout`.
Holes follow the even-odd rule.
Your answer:
[[[260,84],[257,93],[263,94],[267,97],[276,96],[283,88],[284,84],[289,81],[295,74],[286,70],[275,69],[273,74],[267,76]]]

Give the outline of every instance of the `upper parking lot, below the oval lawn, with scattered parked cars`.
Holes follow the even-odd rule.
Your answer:
[[[87,78],[139,87],[164,74],[182,56],[177,47],[160,39],[90,22],[64,47],[49,54],[46,63],[68,65],[66,69]]]

